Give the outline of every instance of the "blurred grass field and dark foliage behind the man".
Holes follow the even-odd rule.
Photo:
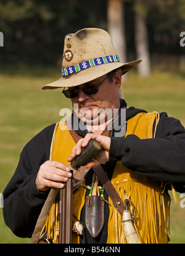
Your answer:
[[[120,0],[121,1],[121,0]],[[126,51],[135,60],[134,0],[125,0]],[[147,111],[167,111],[185,125],[184,0],[142,0],[146,15],[152,73],[128,73],[123,92],[128,105]],[[60,90],[42,91],[60,77],[64,37],[84,27],[107,29],[108,0],[0,0],[0,192],[19,161],[23,146],[45,126],[60,119],[59,110],[71,107]],[[179,200],[179,194],[178,194]],[[171,203],[171,243],[185,242],[184,208]],[[28,243],[15,237],[2,217],[0,244]]]

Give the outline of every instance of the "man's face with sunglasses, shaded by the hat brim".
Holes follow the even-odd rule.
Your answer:
[[[107,119],[109,120],[110,116],[112,117],[113,108],[120,107],[118,89],[121,86],[121,82],[117,81],[121,81],[121,71],[119,70],[113,73],[113,82],[109,82],[109,79],[106,79],[106,77],[107,74],[91,82],[82,84],[79,86],[78,96],[71,99],[76,115],[78,115],[81,120],[86,121],[86,123],[90,122],[90,125],[92,125],[91,120],[93,120],[94,123],[96,123],[96,121],[100,122],[101,110],[102,112],[106,112]],[[100,84],[96,94],[88,95],[83,92],[82,88],[89,84],[94,86]]]

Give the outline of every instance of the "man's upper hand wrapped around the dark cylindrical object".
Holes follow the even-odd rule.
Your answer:
[[[80,139],[78,143],[76,143],[72,150],[72,154],[68,157],[67,161],[71,162],[75,156],[79,156],[81,153],[81,147],[86,147],[90,139],[96,139],[96,141],[101,143],[102,150],[86,165],[86,167],[96,167],[109,161],[110,138],[107,136],[96,135],[94,133],[88,133],[83,139]]]

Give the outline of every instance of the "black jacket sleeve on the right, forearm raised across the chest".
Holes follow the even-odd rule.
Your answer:
[[[163,182],[173,182],[185,190],[185,130],[179,120],[160,114],[155,138],[135,135],[111,138],[109,161]],[[181,187],[181,188],[180,188]]]

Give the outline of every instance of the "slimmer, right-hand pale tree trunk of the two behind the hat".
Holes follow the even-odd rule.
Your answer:
[[[141,4],[138,0],[137,4]],[[139,6],[139,9],[142,6]],[[136,55],[138,60],[142,60],[138,65],[139,75],[147,77],[150,76],[150,55],[147,37],[147,26],[144,14],[135,8],[135,40],[136,40]]]

